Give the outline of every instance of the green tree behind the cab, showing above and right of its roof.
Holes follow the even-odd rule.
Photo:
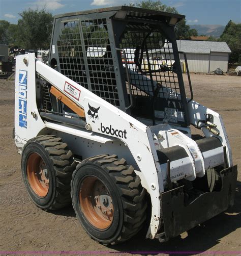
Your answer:
[[[174,7],[164,5],[160,0],[146,0],[136,4],[130,4],[130,6],[178,14],[177,10]],[[176,24],[175,33],[177,39],[191,39],[191,36],[198,35],[195,29],[191,29],[190,25],[186,24],[186,19],[180,20]]]

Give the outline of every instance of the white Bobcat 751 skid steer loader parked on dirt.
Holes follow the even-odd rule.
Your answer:
[[[57,15],[48,66],[17,57],[14,138],[26,190],[45,210],[72,201],[103,244],[133,237],[148,212],[146,237],[163,242],[234,203],[223,120],[193,100],[178,52],[184,17],[127,6]]]

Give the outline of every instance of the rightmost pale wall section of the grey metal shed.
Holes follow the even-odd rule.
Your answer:
[[[215,69],[219,67],[224,72],[228,71],[228,54],[227,53],[211,53],[210,72],[213,72]]]

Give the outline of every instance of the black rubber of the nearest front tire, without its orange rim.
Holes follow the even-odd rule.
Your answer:
[[[86,178],[94,177],[104,184],[111,195],[113,217],[106,228],[98,228],[87,218],[80,203],[80,193]],[[81,187],[82,186],[82,187]],[[108,194],[108,193],[107,193]],[[133,237],[142,228],[146,218],[145,189],[134,168],[116,155],[99,155],[77,165],[71,182],[71,197],[76,216],[87,234],[96,241],[117,244]],[[94,200],[94,199],[93,199]]]

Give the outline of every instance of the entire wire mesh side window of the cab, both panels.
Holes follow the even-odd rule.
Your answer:
[[[63,74],[119,107],[106,19],[64,23],[57,47]]]

